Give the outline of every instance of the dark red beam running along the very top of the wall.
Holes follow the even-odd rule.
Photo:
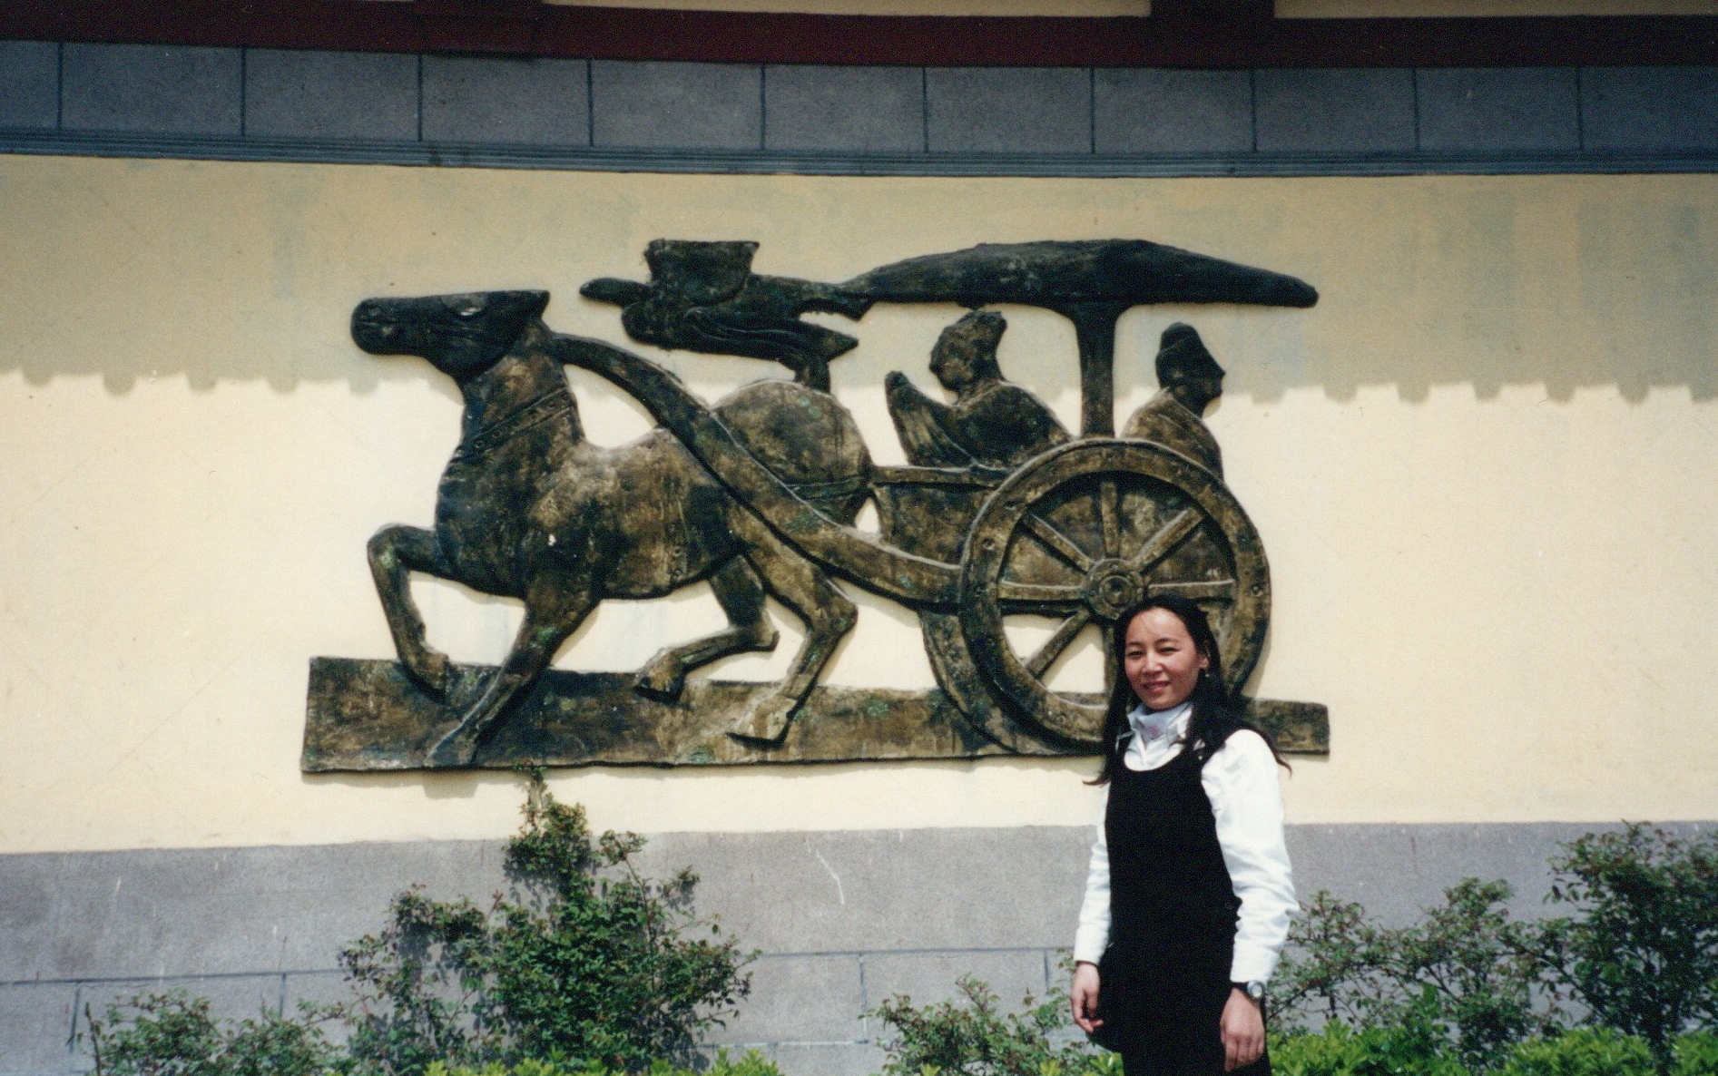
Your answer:
[[[735,63],[1508,67],[1718,63],[1718,17],[1273,19],[1158,0],[1148,19],[569,7],[536,0],[0,0],[0,39]]]

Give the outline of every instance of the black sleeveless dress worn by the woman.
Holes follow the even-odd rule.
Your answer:
[[[1158,769],[1117,765],[1110,779],[1110,947],[1098,1002],[1127,1076],[1223,1076],[1220,1023],[1240,899],[1199,771],[1182,748]],[[1235,1076],[1270,1071],[1261,1057]]]

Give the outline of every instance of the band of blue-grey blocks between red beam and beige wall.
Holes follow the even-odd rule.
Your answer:
[[[1704,170],[1718,67],[917,69],[9,41],[0,149],[907,173]]]

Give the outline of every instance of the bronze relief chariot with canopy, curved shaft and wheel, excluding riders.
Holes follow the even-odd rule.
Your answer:
[[[1154,290],[1141,290],[1139,273],[1118,264],[1139,254],[1154,259]],[[881,525],[871,532],[842,522],[850,511],[828,510],[852,505],[854,489],[783,481],[667,369],[596,342],[565,360],[639,400],[795,551],[916,611],[938,685],[1003,747],[1098,743],[1103,698],[1057,686],[1055,673],[1093,628],[1110,654],[1120,614],[1148,594],[1182,594],[1209,613],[1227,685],[1239,692],[1270,618],[1263,542],[1213,470],[1167,444],[1113,434],[1115,323],[1142,302],[1311,305],[1316,292],[1134,240],[974,247],[885,266],[838,288],[866,307],[1024,302],[1070,317],[1081,434],[1010,468],[873,467],[862,494],[876,501]]]

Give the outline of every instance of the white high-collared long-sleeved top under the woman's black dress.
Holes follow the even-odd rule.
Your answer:
[[[1158,769],[1182,752],[1192,704],[1151,712],[1142,705],[1127,716],[1132,743],[1122,755],[1130,771]],[[1127,733],[1122,733],[1127,736]],[[1242,729],[1228,738],[1204,764],[1199,784],[1216,817],[1216,843],[1223,865],[1240,898],[1235,927],[1235,959],[1228,978],[1237,983],[1264,982],[1276,970],[1276,958],[1288,937],[1295,911],[1294,875],[1283,846],[1283,805],[1276,786],[1276,760],[1264,740]],[[1165,928],[1173,928],[1167,923]],[[1086,901],[1074,935],[1074,959],[1098,963],[1110,944],[1110,848],[1098,820],[1086,872]]]

